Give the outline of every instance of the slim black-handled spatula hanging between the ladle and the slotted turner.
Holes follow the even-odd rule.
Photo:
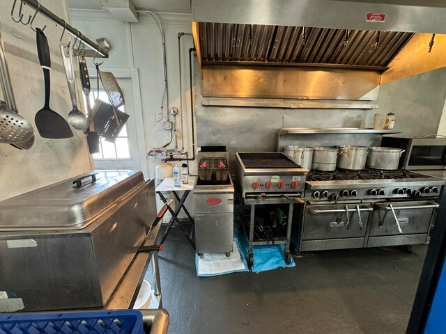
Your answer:
[[[90,77],[89,69],[86,67],[86,61],[83,56],[79,56],[79,73],[81,77],[82,90],[84,90],[84,95],[86,99],[86,113],[87,113],[87,123],[88,126],[84,129],[86,134],[86,143],[89,145],[90,154],[95,154],[100,152],[100,142],[99,134],[95,132],[95,127],[93,124],[93,114],[90,104]]]

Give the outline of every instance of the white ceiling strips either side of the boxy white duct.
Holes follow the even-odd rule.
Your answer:
[[[132,0],[137,10],[190,14],[190,0]],[[68,0],[72,9],[102,9],[100,0]]]

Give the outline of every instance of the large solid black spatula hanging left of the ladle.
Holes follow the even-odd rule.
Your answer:
[[[47,36],[45,36],[43,31],[37,29],[36,40],[40,66],[43,69],[43,77],[45,79],[45,104],[36,113],[36,117],[34,118],[36,127],[40,136],[43,138],[71,138],[73,134],[68,122],[59,113],[49,108],[49,93],[51,92],[49,70],[51,69],[51,58],[49,56]]]

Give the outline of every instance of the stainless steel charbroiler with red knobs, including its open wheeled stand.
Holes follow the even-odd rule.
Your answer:
[[[236,152],[236,186],[242,211],[249,207],[249,215],[242,215],[249,241],[249,267],[254,264],[255,245],[284,244],[285,261],[291,262],[293,207],[305,194],[307,173],[282,152]]]

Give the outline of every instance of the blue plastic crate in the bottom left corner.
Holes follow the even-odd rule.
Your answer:
[[[144,334],[137,310],[1,315],[0,334]]]

